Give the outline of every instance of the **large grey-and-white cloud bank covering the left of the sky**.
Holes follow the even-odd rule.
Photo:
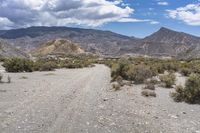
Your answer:
[[[0,17],[15,27],[99,26],[109,22],[144,22],[131,18],[134,9],[123,0],[1,0]],[[0,23],[1,25],[1,23]],[[2,26],[1,26],[2,27]]]

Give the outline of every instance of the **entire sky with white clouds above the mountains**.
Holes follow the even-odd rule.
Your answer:
[[[0,29],[68,26],[145,37],[160,27],[200,36],[200,0],[1,0]]]

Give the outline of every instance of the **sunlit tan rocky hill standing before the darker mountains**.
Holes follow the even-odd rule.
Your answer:
[[[76,43],[66,39],[48,41],[31,51],[33,56],[82,54],[85,51]]]

